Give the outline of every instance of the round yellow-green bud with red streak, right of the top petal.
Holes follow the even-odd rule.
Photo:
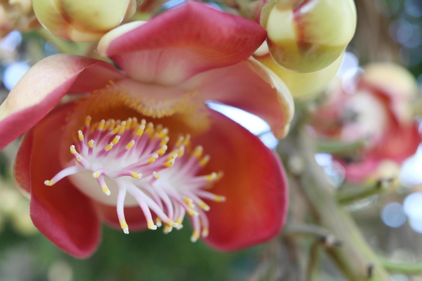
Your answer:
[[[332,64],[356,29],[353,0],[272,0],[261,11],[271,56],[294,72],[315,72]]]

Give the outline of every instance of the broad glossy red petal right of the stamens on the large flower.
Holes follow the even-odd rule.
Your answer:
[[[225,175],[210,190],[224,203],[208,202],[206,243],[235,250],[267,241],[281,230],[287,214],[287,178],[280,159],[254,135],[210,110],[211,129],[194,139],[211,155],[206,171]]]

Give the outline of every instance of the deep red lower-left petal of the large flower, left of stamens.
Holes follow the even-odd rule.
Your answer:
[[[27,132],[15,175],[19,185],[31,194],[30,215],[35,227],[69,254],[88,257],[100,242],[100,219],[92,201],[67,178],[53,187],[43,183],[60,170],[60,127],[68,108],[69,104],[57,108]],[[25,167],[27,170],[22,170]]]

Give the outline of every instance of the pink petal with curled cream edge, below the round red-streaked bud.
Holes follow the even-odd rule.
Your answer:
[[[238,107],[264,119],[274,135],[284,137],[293,118],[293,98],[283,81],[252,57],[230,67],[209,70],[181,87],[204,100]]]

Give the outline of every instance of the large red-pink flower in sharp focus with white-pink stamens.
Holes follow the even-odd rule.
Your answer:
[[[35,64],[0,107],[0,148],[27,131],[15,178],[34,225],[77,257],[96,249],[101,221],[168,233],[186,215],[191,240],[221,250],[275,236],[287,211],[279,158],[204,103],[247,110],[277,137],[287,133],[292,97],[250,57],[265,34],[188,2],[105,35],[98,51],[119,69],[68,54]]]

